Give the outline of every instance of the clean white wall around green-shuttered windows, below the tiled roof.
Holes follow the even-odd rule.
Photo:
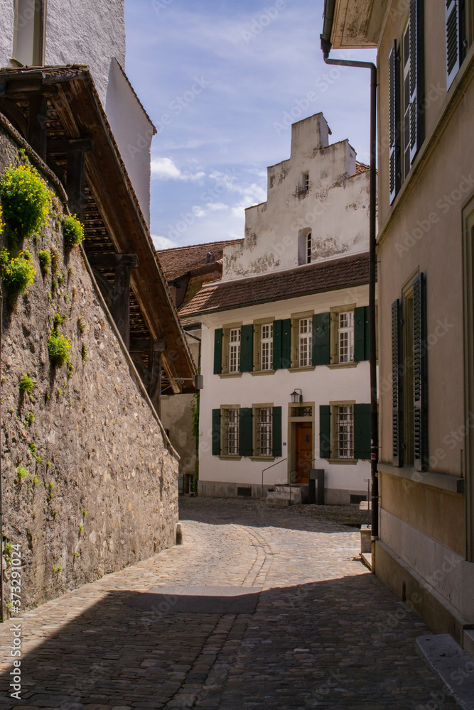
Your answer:
[[[259,403],[273,403],[281,406],[282,458],[287,456],[288,414],[290,393],[294,388],[301,388],[303,400],[314,403],[314,456],[319,453],[319,406],[338,400],[355,400],[357,403],[370,403],[370,371],[367,361],[356,367],[335,368],[318,366],[310,371],[277,370],[274,374],[257,375],[242,373],[237,377],[221,377],[213,373],[214,332],[230,322],[249,324],[259,318],[289,318],[292,314],[314,310],[328,312],[331,306],[355,303],[367,305],[368,287],[319,293],[304,297],[281,300],[264,305],[254,305],[226,312],[203,316],[202,372],[204,389],[200,397],[200,481],[225,481],[239,484],[261,484],[262,469],[271,464],[263,461],[251,461],[242,457],[239,461],[222,460],[212,456],[212,409],[222,405],[241,405],[252,407]],[[276,459],[277,460],[277,459]],[[366,493],[364,479],[370,476],[370,461],[357,461],[357,464],[328,464],[326,459],[317,458],[313,468],[325,469],[325,488],[342,489],[353,493]],[[265,484],[284,484],[288,475],[286,462],[275,466],[265,474]]]

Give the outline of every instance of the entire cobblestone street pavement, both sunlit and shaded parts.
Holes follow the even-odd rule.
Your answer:
[[[302,508],[181,501],[183,545],[24,614],[21,700],[0,630],[0,710],[457,708],[416,654],[429,628],[362,566],[357,530]],[[254,613],[232,597],[196,613],[203,586],[253,588]]]

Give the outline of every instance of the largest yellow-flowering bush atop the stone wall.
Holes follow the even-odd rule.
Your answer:
[[[0,197],[6,222],[20,239],[35,234],[46,224],[52,195],[32,165],[5,168]]]

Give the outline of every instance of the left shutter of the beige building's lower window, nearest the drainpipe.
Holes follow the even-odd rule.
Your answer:
[[[402,308],[392,303],[392,447],[394,466],[403,466]]]

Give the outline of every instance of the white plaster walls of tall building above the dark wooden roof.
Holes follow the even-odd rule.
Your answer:
[[[150,147],[153,124],[124,78],[124,0],[43,0],[43,64],[90,68],[147,224],[150,221]],[[20,10],[15,8],[20,8]],[[33,22],[35,0],[0,0],[0,66],[17,66],[14,27]],[[117,64],[118,62],[118,64]]]

